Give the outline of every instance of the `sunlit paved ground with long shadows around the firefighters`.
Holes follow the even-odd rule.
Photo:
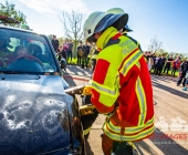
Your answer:
[[[65,79],[70,86],[87,84],[91,70],[69,65]],[[177,78],[152,75],[156,131],[150,138],[137,142],[140,155],[188,155],[188,92],[176,86]],[[87,155],[102,155],[101,114],[86,142]]]

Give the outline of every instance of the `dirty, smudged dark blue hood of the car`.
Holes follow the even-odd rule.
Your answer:
[[[0,153],[69,149],[67,106],[60,76],[0,75]]]

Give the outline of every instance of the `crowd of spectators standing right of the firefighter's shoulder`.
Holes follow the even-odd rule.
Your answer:
[[[188,86],[188,60],[177,55],[177,58],[174,58],[173,54],[168,55],[166,58],[165,54],[158,54],[152,52],[144,52],[144,56],[146,59],[148,70],[149,72],[161,75],[161,73],[169,74],[169,71],[171,72],[171,75],[176,75],[176,72],[178,72],[178,80],[177,80],[177,86],[182,84],[184,91],[187,91]]]

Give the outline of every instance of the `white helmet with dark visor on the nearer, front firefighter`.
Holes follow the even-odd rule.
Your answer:
[[[84,39],[88,42],[96,42],[94,34],[104,31],[108,27],[114,27],[117,30],[125,27],[128,21],[127,13],[105,13],[105,12],[93,12],[86,19],[83,31]]]

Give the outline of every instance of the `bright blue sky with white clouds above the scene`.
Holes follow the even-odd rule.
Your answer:
[[[0,0],[4,3],[6,0]],[[10,1],[10,0],[9,0]],[[156,37],[168,52],[188,53],[188,0],[11,0],[33,31],[63,37],[62,11],[90,14],[122,8],[129,14],[129,35],[148,50]]]

